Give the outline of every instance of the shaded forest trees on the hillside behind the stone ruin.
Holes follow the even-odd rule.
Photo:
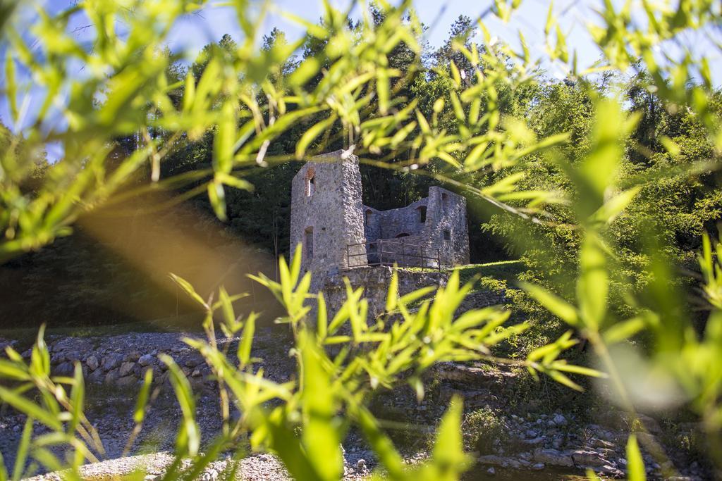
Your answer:
[[[378,8],[372,12],[374,22],[380,25],[383,12]],[[357,29],[360,25],[349,27]],[[456,105],[448,94],[452,82],[449,69],[452,64],[458,71],[470,72],[474,67],[453,45],[461,39],[469,47],[470,39],[478,33],[477,25],[469,17],[461,16],[451,25],[448,39],[439,48],[422,44],[422,52],[418,54],[404,43],[396,45],[388,54],[388,65],[398,69],[403,81],[396,84],[393,92],[393,108],[403,111],[409,105],[417,106],[427,117],[438,121],[438,128],[449,132],[458,130]],[[274,48],[286,44],[284,32],[274,28],[264,36],[262,48],[273,52]],[[326,46],[309,35],[301,48],[279,66],[273,81],[282,84],[305,59],[316,58]],[[235,40],[224,35],[219,43],[206,45],[190,65],[180,60],[171,61],[165,75],[169,84],[178,87],[171,92],[170,99],[181,105],[185,89],[183,79],[188,72],[197,82],[212,54],[230,55],[237,48]],[[170,50],[163,55],[173,57]],[[513,75],[511,66],[509,74]],[[656,94],[644,87],[649,74],[641,67],[635,74],[625,76],[602,72],[587,78],[566,79],[549,76],[537,67],[535,75],[536,81],[524,82],[514,88],[500,84],[495,107],[501,115],[528,119],[531,132],[525,135],[548,138],[570,133],[570,140],[561,150],[565,159],[572,163],[582,159],[590,148],[588,139],[597,97],[619,94],[625,108],[640,116],[625,141],[620,181],[631,183],[642,176],[653,180],[645,182],[625,219],[614,224],[614,239],[624,256],[622,265],[625,272],[643,277],[643,270],[639,268],[644,260],[639,252],[644,246],[640,241],[645,239],[643,233],[654,232],[651,237],[658,236],[656,242],[668,244],[668,254],[675,265],[693,268],[700,235],[703,231],[714,231],[716,222],[722,219],[722,190],[718,188],[720,172],[697,172],[692,168],[715,155],[700,120],[690,110],[682,108],[671,112],[665,108]],[[309,79],[309,88],[315,88],[322,79],[321,73],[316,74]],[[438,100],[440,95],[445,102]],[[266,100],[259,96],[258,102],[264,105]],[[718,91],[714,94],[712,108],[720,115],[722,95]],[[292,158],[303,133],[327,116],[319,113],[295,123],[269,144],[268,154]],[[344,146],[340,129],[336,124],[323,133],[317,142],[323,145],[323,151]],[[157,128],[151,130],[149,136],[164,138],[170,134]],[[10,145],[11,138],[12,133],[3,128],[1,142],[4,148]],[[131,156],[143,144],[144,139],[139,134],[116,138],[111,157]],[[258,270],[274,273],[272,260],[279,255],[289,255],[290,182],[300,168],[300,162],[249,169],[245,172],[245,180],[253,185],[253,190],[228,190],[225,198],[227,219],[219,221],[203,188],[206,172],[213,164],[214,129],[204,132],[196,140],[181,138],[175,140],[175,144],[175,149],[160,165],[160,177],[177,177],[180,181],[166,187],[162,195],[134,195],[130,199],[126,196],[113,206],[86,216],[87,221],[79,222],[72,236],[0,265],[2,325],[40,325],[43,322],[51,326],[105,325],[173,317],[192,310],[188,304],[179,301],[169,278],[147,275],[149,269],[124,257],[113,248],[113,243],[136,245],[147,257],[157,259],[168,255],[168,247],[178,242],[178,238],[193,237],[214,252],[223,252],[229,245],[236,246],[223,261],[235,266],[236,270],[228,273],[235,279],[235,285],[250,286],[244,281],[245,273]],[[670,145],[674,150],[669,149]],[[376,148],[367,158],[401,164],[406,156],[406,151],[387,147]],[[541,162],[543,160],[541,154],[532,154],[523,165],[516,167],[518,172],[527,172],[519,182],[521,187],[557,193],[560,198],[570,199],[571,203],[578,202],[564,172],[553,164]],[[32,179],[38,184],[48,170],[42,154],[36,164],[35,174],[26,182],[28,190],[34,188]],[[426,175],[418,175],[409,169],[376,167],[369,162],[362,164],[361,169],[363,201],[379,209],[406,206],[425,197],[430,185],[440,183],[434,178],[435,173],[451,172],[443,161],[432,161],[424,172]],[[515,172],[515,168],[502,172],[508,175]],[[135,184],[141,185],[148,175],[147,170],[137,174]],[[454,178],[471,185],[484,185],[502,177],[496,170],[489,170],[461,177],[455,174]],[[446,187],[458,190],[456,185]],[[125,188],[131,191],[132,184]],[[171,198],[181,198],[183,202],[170,201]],[[578,238],[567,228],[573,224],[568,205],[554,203],[547,209],[549,217],[556,219],[555,223],[530,226],[513,213],[469,197],[471,262],[523,256],[529,267],[527,280],[542,281],[553,277],[558,281],[557,286],[564,286],[565,276],[575,270]],[[115,225],[115,238],[95,236],[92,224],[99,223]],[[550,250],[554,252],[551,257],[539,255],[544,252],[549,256]],[[186,260],[186,265],[174,268],[192,272],[199,270],[199,264],[204,262],[206,260],[201,258]],[[640,286],[644,283],[639,278],[638,282]],[[212,289],[214,283],[207,281],[205,285]],[[571,288],[569,282],[566,286]],[[129,309],[121,298],[131,299],[132,307]]]

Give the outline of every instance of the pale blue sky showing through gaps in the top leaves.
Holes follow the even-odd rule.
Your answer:
[[[64,9],[72,3],[72,0],[37,0],[40,4],[45,5],[51,11]],[[398,0],[396,0],[398,1]],[[211,2],[211,5],[219,2]],[[275,0],[273,2],[279,10],[291,12],[299,17],[303,17],[310,21],[317,21],[321,17],[323,4],[321,0]],[[331,0],[331,3],[339,7],[349,5],[349,0]],[[449,27],[453,21],[460,15],[464,14],[471,18],[479,17],[485,12],[492,1],[467,1],[467,0],[415,0],[414,7],[422,22],[427,25],[427,40],[432,48],[438,47],[448,38]],[[591,66],[592,63],[599,60],[600,52],[596,45],[592,42],[587,32],[589,22],[597,22],[597,15],[594,9],[601,5],[601,0],[557,0],[554,2],[554,17],[562,27],[567,37],[567,45],[570,49],[575,49],[578,54],[578,62],[580,69]],[[521,2],[521,8],[516,12],[509,24],[504,24],[495,16],[489,14],[484,18],[484,22],[489,28],[492,35],[500,40],[505,41],[513,47],[518,47],[518,30],[523,32],[526,42],[531,50],[533,58],[544,58],[544,24],[547,18],[547,10],[549,3],[541,0],[524,0]],[[352,16],[357,16],[358,12],[352,12]],[[27,19],[18,18],[15,20],[18,24],[27,22]],[[75,19],[71,28],[84,25],[83,19]],[[273,27],[279,27],[287,33],[288,37],[295,38],[302,35],[303,31],[295,23],[290,22],[277,13],[271,12],[265,21],[263,30],[270,32]],[[22,31],[22,28],[20,29]],[[216,42],[225,33],[229,33],[236,39],[241,37],[240,30],[235,18],[235,11],[230,7],[209,6],[198,12],[191,14],[178,22],[173,32],[171,32],[168,40],[168,46],[174,52],[186,53],[186,58],[192,60],[196,53],[203,45],[209,42]],[[82,32],[77,35],[84,35]],[[87,35],[87,34],[85,34]],[[722,79],[722,56],[720,51],[713,47],[708,39],[709,32],[697,32],[684,38],[684,43],[690,45],[692,50],[697,53],[709,52],[711,55],[710,66],[713,68],[713,79],[715,84],[719,85]],[[721,40],[718,38],[718,40]],[[672,48],[665,46],[664,48]],[[661,53],[661,52],[660,52]],[[669,53],[669,52],[668,52]],[[672,53],[675,53],[674,51]],[[559,66],[542,63],[548,74],[562,78],[565,71]],[[81,69],[78,67],[78,75],[82,75]],[[27,99],[27,111],[32,112],[33,107],[37,104],[35,97],[30,91],[30,98]],[[27,115],[24,122],[20,125],[14,125],[14,130],[22,130],[23,125],[27,125],[31,115]],[[6,125],[9,123],[9,112],[7,102],[4,98],[0,98],[0,120]],[[61,155],[61,152],[49,149],[48,156],[51,159]]]

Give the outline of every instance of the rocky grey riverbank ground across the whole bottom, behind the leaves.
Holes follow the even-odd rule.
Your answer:
[[[55,366],[53,371],[71,374],[73,363],[79,361],[88,381],[87,417],[103,439],[105,454],[100,457],[108,461],[85,467],[85,477],[123,475],[142,464],[147,466],[147,481],[151,481],[171,462],[172,456],[168,452],[173,449],[181,412],[165,382],[168,375],[159,360],[161,353],[172,356],[191,379],[199,397],[197,418],[206,438],[218,432],[217,394],[207,377],[207,366],[183,343],[186,336],[188,334],[142,333],[48,338]],[[231,350],[237,342],[237,339],[219,339],[222,348]],[[264,369],[266,376],[275,381],[290,379],[294,372],[293,360],[288,356],[290,345],[287,335],[279,335],[273,330],[258,332],[253,354],[264,359],[258,367]],[[134,456],[123,456],[134,426],[134,397],[145,369],[155,371],[160,395],[152,403],[142,436],[130,450]],[[571,479],[570,476],[583,474],[587,468],[602,477],[624,477],[629,426],[622,414],[609,410],[590,423],[588,417],[570,412],[542,412],[516,404],[511,407],[513,403],[504,393],[513,391],[509,389],[513,378],[510,371],[443,364],[427,376],[429,389],[423,402],[417,402],[411,389],[395,389],[380,394],[371,407],[381,419],[407,420],[411,424],[405,431],[390,431],[390,434],[403,447],[409,462],[415,462],[426,456],[430,446],[429,433],[435,430],[448,401],[454,394],[461,395],[467,413],[465,431],[471,431],[466,436],[467,444],[471,451],[476,451],[479,462],[469,479]],[[483,423],[474,425],[474,413],[486,416],[479,418]],[[0,452],[9,466],[14,462],[23,423],[21,415],[9,410],[0,411]],[[645,427],[649,431],[647,436],[654,438],[661,433],[658,423],[651,418],[645,418]],[[481,436],[474,438],[474,429],[481,429],[478,433]],[[484,436],[493,441],[484,442]],[[344,442],[344,450],[347,479],[367,477],[375,460],[362,438],[352,432]],[[227,463],[227,459],[219,459],[206,469],[201,479],[213,481],[227,469]],[[677,471],[683,476],[679,479],[705,479],[703,469],[694,463],[676,464]],[[671,468],[659,466],[648,454],[645,454],[645,465],[651,479],[664,478],[664,468]],[[244,459],[240,475],[247,480],[287,479],[282,464],[266,454],[254,454]],[[57,475],[43,477],[57,479]]]

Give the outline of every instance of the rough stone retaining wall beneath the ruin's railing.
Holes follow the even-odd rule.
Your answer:
[[[438,272],[418,272],[399,269],[399,295],[409,294],[426,286],[445,286],[448,274]],[[383,314],[386,309],[388,283],[391,281],[393,269],[388,266],[355,268],[336,273],[323,281],[321,291],[329,309],[329,318],[346,300],[344,278],[349,279],[352,286],[364,288],[364,298],[368,301],[368,319]]]

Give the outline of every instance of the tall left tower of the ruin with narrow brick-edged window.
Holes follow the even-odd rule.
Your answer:
[[[355,264],[365,264],[358,157],[342,150],[315,156],[291,188],[291,252],[303,244],[301,269],[313,272],[314,285],[349,267],[347,248]]]

